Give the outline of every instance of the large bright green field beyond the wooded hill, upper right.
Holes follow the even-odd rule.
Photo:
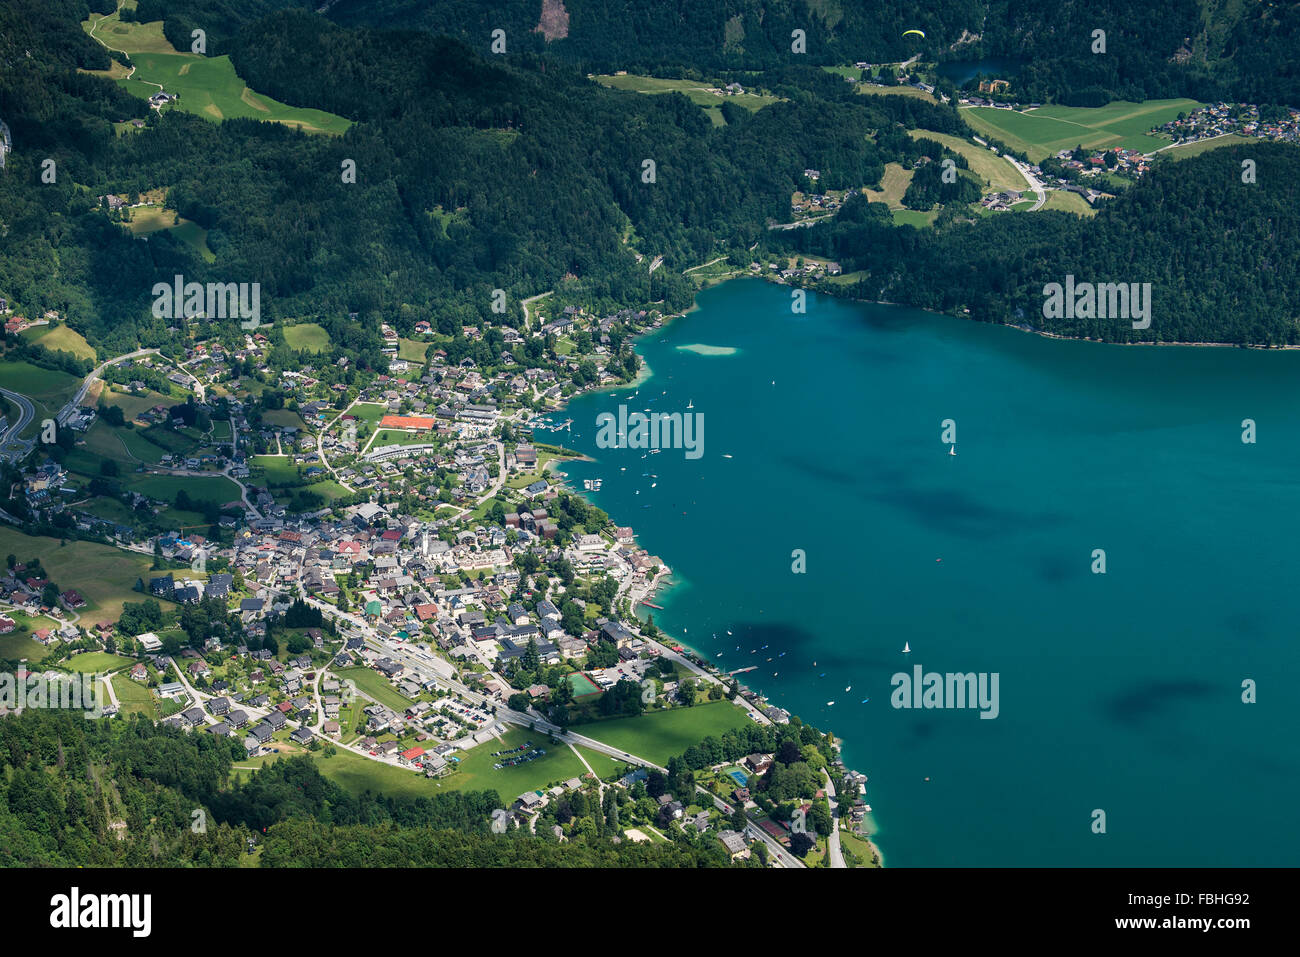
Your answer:
[[[966,124],[982,137],[993,137],[1026,153],[1034,163],[1061,150],[1083,146],[1091,150],[1139,150],[1152,152],[1167,146],[1167,139],[1147,131],[1191,112],[1196,100],[1117,100],[1105,107],[1040,107],[1020,113],[993,107],[963,107]]]

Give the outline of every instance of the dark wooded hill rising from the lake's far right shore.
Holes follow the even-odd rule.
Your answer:
[[[1242,182],[1253,159],[1256,183]],[[1157,166],[1092,220],[998,216],[940,230],[897,229],[858,200],[832,224],[785,234],[801,252],[866,276],[837,291],[988,322],[1110,342],[1300,342],[1300,152],[1284,144],[1214,150]],[[942,264],[936,268],[935,264]],[[1149,329],[1122,319],[1044,319],[1043,287],[1150,282]]]

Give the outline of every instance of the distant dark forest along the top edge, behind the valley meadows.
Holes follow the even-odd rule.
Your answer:
[[[153,0],[161,3],[162,0]],[[195,9],[213,0],[181,0]],[[277,0],[264,0],[277,3]],[[280,0],[286,3],[286,0]],[[1027,100],[1100,105],[1164,96],[1300,100],[1300,7],[1169,0],[566,0],[567,35],[537,31],[542,0],[337,0],[328,16],[350,26],[402,26],[460,36],[486,48],[576,60],[584,69],[664,66],[768,69],[790,59],[790,31],[807,35],[818,64],[924,59],[1014,59]],[[918,29],[926,38],[902,36]],[[1106,53],[1092,49],[1105,30]]]

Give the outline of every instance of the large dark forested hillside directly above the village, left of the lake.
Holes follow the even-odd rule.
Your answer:
[[[66,104],[84,143],[52,139],[42,98],[0,81],[17,144],[0,177],[0,289],[30,311],[58,309],[110,351],[165,338],[147,307],[153,282],[174,273],[260,282],[264,319],[318,317],[352,355],[377,348],[380,319],[408,330],[429,317],[448,334],[490,319],[494,287],[517,299],[568,282],[594,303],[685,308],[681,269],[719,243],[757,242],[766,220],[788,213],[806,166],[870,183],[897,159],[874,130],[959,129],[950,109],[864,101],[820,70],[803,70],[802,86],[777,78],[784,101],[729,111],[715,129],[681,96],[606,90],[545,60],[490,60],[455,40],[344,30],[302,10],[246,27],[231,42],[235,65],[254,88],[358,125],[328,138],[213,124],[151,113],[74,73],[105,65],[84,46],[84,12],[65,0],[64,20],[34,38],[46,44],[39,82],[74,77],[95,92]],[[82,43],[65,51],[55,26]],[[143,134],[113,137],[109,121],[139,114]],[[48,185],[46,153],[62,170]],[[342,181],[344,160],[355,183]],[[101,192],[159,186],[208,230],[214,264],[166,233],[135,242],[98,208]],[[676,268],[651,282],[633,250]]]

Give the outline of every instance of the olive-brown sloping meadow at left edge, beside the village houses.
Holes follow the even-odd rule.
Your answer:
[[[135,580],[150,573],[150,558],[95,542],[69,542],[22,534],[0,527],[0,554],[20,562],[39,558],[42,567],[61,589],[74,588],[87,606],[78,610],[83,622],[116,622],[124,602],[144,601]]]

